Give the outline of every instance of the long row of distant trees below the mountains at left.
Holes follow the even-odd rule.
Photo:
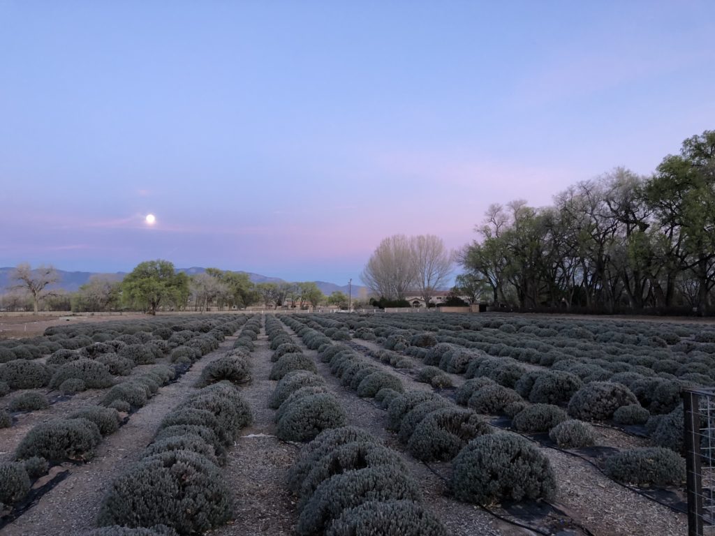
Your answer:
[[[242,309],[261,304],[267,309],[320,304],[347,307],[348,297],[336,291],[326,297],[315,282],[254,283],[245,272],[207,268],[189,276],[177,272],[165,260],[141,262],[122,281],[93,276],[77,292],[53,289],[59,276],[52,267],[31,269],[19,264],[11,274],[10,292],[1,296],[0,307],[35,313],[40,308],[56,311],[103,312],[122,309],[155,314],[159,309],[206,311]],[[353,299],[353,303],[358,302]],[[359,303],[358,303],[359,304]]]

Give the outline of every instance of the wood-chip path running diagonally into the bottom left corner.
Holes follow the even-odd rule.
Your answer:
[[[139,459],[164,415],[196,391],[193,385],[202,369],[225,354],[234,340],[235,337],[227,337],[217,350],[194,363],[178,382],[161,387],[126,425],[102,440],[91,462],[66,465],[71,474],[41,497],[38,504],[4,527],[3,536],[79,536],[94,528],[99,505],[112,480]]]

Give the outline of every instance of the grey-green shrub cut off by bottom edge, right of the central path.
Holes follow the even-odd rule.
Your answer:
[[[368,501],[347,508],[325,536],[447,536],[442,522],[411,500]]]

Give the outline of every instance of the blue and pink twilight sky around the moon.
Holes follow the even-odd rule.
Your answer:
[[[711,0],[0,0],[0,266],[356,282],[654,172],[715,128],[713,34]]]

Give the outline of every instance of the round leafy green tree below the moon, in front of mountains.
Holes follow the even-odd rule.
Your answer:
[[[157,314],[162,303],[172,303],[176,307],[188,296],[189,278],[184,273],[177,274],[174,264],[169,261],[141,262],[122,281],[122,301],[149,314]]]

